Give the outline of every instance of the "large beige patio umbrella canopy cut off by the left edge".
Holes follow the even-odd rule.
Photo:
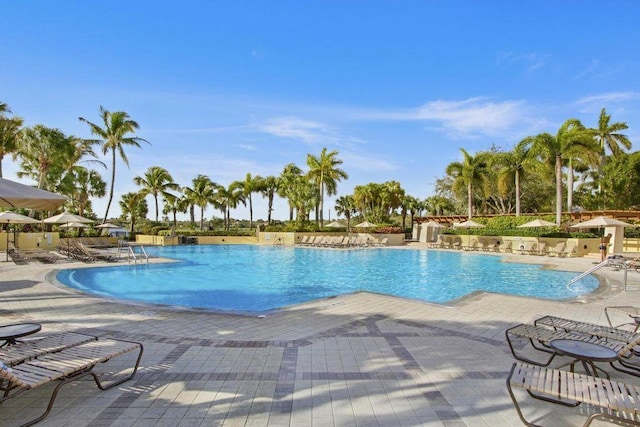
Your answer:
[[[0,178],[0,207],[53,211],[66,201],[65,196]]]

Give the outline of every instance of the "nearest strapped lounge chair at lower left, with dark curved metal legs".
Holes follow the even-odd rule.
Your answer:
[[[98,363],[108,362],[115,357],[135,350],[138,350],[138,356],[133,371],[124,378],[114,379],[110,383],[104,384],[100,377],[93,372],[93,368]],[[100,339],[70,346],[53,353],[45,353],[11,367],[0,365],[0,391],[4,392],[0,403],[40,385],[60,381],[54,388],[44,413],[22,426],[33,425],[49,415],[58,391],[71,381],[91,375],[100,390],[107,390],[133,378],[138,371],[142,351],[143,347],[140,343]],[[28,407],[28,411],[31,411],[30,407]]]

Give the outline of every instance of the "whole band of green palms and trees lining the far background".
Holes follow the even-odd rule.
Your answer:
[[[9,106],[0,103],[0,177],[2,160],[12,156],[18,162],[18,177],[33,179],[38,188],[69,197],[70,211],[96,216],[91,199],[107,195],[107,183],[96,168],[110,172],[108,202],[103,215],[107,220],[113,202],[118,160],[128,166],[127,150],[142,148],[149,141],[136,136],[139,125],[124,111],[99,109],[97,122],[80,117],[93,139],[65,135],[44,125],[23,127],[23,119]],[[491,147],[475,154],[461,148],[463,159],[449,164],[438,178],[435,195],[421,200],[406,194],[396,181],[357,185],[353,194],[336,199],[335,211],[347,220],[358,217],[376,224],[389,224],[399,215],[406,227],[407,217],[427,212],[432,215],[467,216],[488,213],[549,212],[555,209],[558,225],[563,208],[622,209],[640,201],[640,155],[627,153],[631,142],[621,132],[626,123],[611,123],[602,109],[597,126],[585,127],[577,119],[565,121],[555,134],[543,132],[524,138],[511,150]],[[96,150],[110,157],[111,164],[98,160]],[[336,150],[326,147],[318,155],[308,154],[303,170],[294,163],[284,166],[278,176],[247,173],[244,179],[224,186],[205,174],[199,174],[186,186],[174,181],[169,171],[151,166],[134,178],[140,190],[124,194],[118,201],[123,220],[133,231],[137,221],[146,219],[146,197],[154,200],[155,221],[162,213],[171,215],[174,227],[177,214],[188,213],[190,222],[204,229],[204,213],[211,206],[222,213],[226,230],[230,211],[240,205],[249,209],[249,227],[253,226],[253,196],[267,199],[267,222],[272,222],[276,196],[285,199],[289,221],[299,226],[324,225],[325,196],[337,195],[338,184],[348,179]],[[563,199],[566,196],[566,204]]]

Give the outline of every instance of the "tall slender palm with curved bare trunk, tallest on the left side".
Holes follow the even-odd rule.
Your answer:
[[[129,159],[124,152],[124,147],[127,145],[140,148],[141,142],[149,143],[148,141],[136,137],[127,136],[135,133],[136,129],[140,126],[134,120],[131,120],[129,114],[124,111],[110,112],[104,107],[100,106],[100,117],[104,127],[100,127],[94,123],[91,123],[83,117],[79,117],[81,122],[89,125],[91,133],[100,138],[102,142],[102,153],[107,154],[111,152],[111,186],[109,188],[109,201],[107,202],[107,209],[104,213],[104,219],[102,222],[107,221],[109,216],[109,208],[111,207],[111,201],[113,200],[113,190],[116,183],[116,153],[120,155],[120,158],[127,167],[129,167]]]

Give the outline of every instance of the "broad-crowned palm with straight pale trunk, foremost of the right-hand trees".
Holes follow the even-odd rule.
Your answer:
[[[556,225],[562,225],[562,165],[565,160],[572,158],[580,149],[590,150],[593,138],[585,132],[584,126],[577,119],[565,121],[556,135],[543,132],[533,138],[532,150],[534,154],[552,166],[556,182]]]

